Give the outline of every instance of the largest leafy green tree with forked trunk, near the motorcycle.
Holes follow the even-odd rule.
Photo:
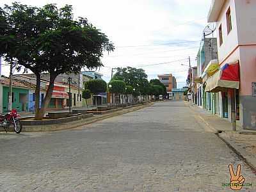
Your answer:
[[[0,55],[36,75],[36,120],[43,118],[59,74],[101,67],[103,51],[114,50],[107,36],[87,19],[74,20],[70,5],[58,9],[55,4],[37,8],[12,3],[0,9],[0,22]],[[49,72],[50,81],[39,109],[42,72]]]

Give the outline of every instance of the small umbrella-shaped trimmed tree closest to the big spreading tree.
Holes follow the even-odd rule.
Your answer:
[[[102,79],[91,79],[84,83],[84,88],[90,90],[93,96],[96,97],[95,104],[98,105],[97,95],[102,92],[106,92],[107,83]]]

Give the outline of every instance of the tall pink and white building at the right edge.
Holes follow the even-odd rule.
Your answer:
[[[255,0],[212,0],[208,15],[208,22],[216,22],[217,26],[220,67],[239,62],[239,89],[227,88],[227,106],[229,120],[230,111],[235,109],[243,129],[256,129],[255,12]]]

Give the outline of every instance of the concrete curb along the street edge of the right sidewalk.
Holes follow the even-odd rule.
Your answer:
[[[189,108],[191,108],[191,106],[189,106]],[[193,109],[192,109],[193,110]],[[204,122],[205,125],[207,125],[207,127],[209,127],[209,129],[211,129],[216,136],[218,136],[218,138],[220,138],[224,143],[226,143],[226,145],[234,151],[234,153],[239,156],[241,159],[243,159],[243,161],[248,164],[248,166],[250,166],[250,168],[252,168],[252,170],[254,170],[256,172],[256,158],[251,157],[248,152],[246,152],[246,150],[244,150],[243,147],[240,147],[239,145],[237,145],[234,141],[232,141],[230,139],[230,136],[227,134],[227,132],[222,131],[222,130],[218,130],[215,127],[212,127],[210,124],[208,124],[208,122],[204,119],[203,116],[198,115],[200,117],[200,119]],[[243,134],[240,132],[237,132],[239,134]],[[253,132],[254,133],[254,132]]]

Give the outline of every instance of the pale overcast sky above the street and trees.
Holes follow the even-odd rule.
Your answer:
[[[72,4],[74,17],[86,17],[108,35],[115,52],[102,58],[100,73],[107,82],[112,67],[143,68],[148,79],[172,73],[180,88],[186,84],[188,56],[196,65],[196,53],[207,25],[211,0],[24,0],[23,4],[58,6]],[[1,0],[0,6],[10,4]],[[163,64],[162,64],[163,63]],[[2,66],[8,76],[8,67]]]

